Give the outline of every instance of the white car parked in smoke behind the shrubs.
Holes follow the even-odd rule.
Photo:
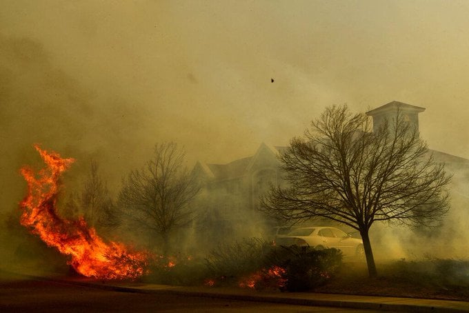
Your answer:
[[[286,236],[277,238],[277,245],[309,245],[317,250],[336,248],[342,251],[344,256],[357,256],[363,258],[363,241],[338,228],[317,226],[297,228]]]

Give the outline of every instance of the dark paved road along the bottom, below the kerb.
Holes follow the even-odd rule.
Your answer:
[[[376,312],[101,290],[0,274],[0,312]]]

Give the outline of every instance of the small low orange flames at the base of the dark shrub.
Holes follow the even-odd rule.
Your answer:
[[[273,265],[268,269],[259,270],[239,282],[242,288],[258,288],[261,287],[285,287],[287,280],[283,278],[286,270],[283,267]]]

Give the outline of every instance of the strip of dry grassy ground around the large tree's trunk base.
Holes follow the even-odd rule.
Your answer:
[[[314,292],[469,301],[468,261],[388,261],[377,267],[378,277],[370,279],[366,263],[345,262]]]

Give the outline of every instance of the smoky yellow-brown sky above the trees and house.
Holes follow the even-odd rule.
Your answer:
[[[469,158],[468,16],[468,1],[3,0],[2,190],[33,143],[115,181],[159,141],[226,163],[342,103],[422,106],[430,148]]]

